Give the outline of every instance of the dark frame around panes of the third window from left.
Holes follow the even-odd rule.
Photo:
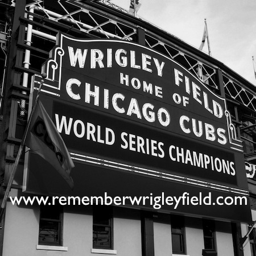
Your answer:
[[[177,225],[178,224],[178,225]],[[175,232],[173,227],[179,228],[180,232]],[[180,236],[180,247],[181,251],[174,250],[174,242],[173,242],[173,235],[178,235]],[[187,246],[186,246],[186,240],[185,240],[185,221],[183,216],[176,216],[172,215],[171,216],[171,236],[172,236],[172,254],[181,254],[185,255],[187,254]]]

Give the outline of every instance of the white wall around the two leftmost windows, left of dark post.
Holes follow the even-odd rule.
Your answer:
[[[15,195],[15,190],[12,189]],[[89,209],[89,210],[88,210]],[[64,207],[63,246],[38,246],[39,207],[17,207],[7,203],[3,256],[97,256],[92,253],[92,207]],[[117,255],[142,255],[141,221],[137,217],[114,217],[114,250]],[[127,214],[127,216],[130,216]],[[38,248],[38,249],[37,249]]]

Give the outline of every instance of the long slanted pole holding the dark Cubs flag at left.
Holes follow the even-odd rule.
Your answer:
[[[9,178],[9,181],[8,181],[8,184],[7,184],[7,187],[6,187],[5,195],[3,196],[3,201],[2,201],[2,205],[1,205],[1,212],[0,212],[0,220],[3,216],[3,211],[5,210],[6,203],[7,203],[7,197],[9,196],[9,193],[10,193],[10,190],[11,190],[11,185],[13,184],[14,176],[15,176],[15,173],[16,173],[19,161],[20,161],[20,157],[22,155],[24,142],[27,138],[28,128],[30,127],[32,115],[34,114],[36,105],[38,104],[39,94],[40,94],[42,85],[44,83],[44,79],[47,77],[46,73],[43,73],[41,76],[42,76],[42,80],[40,81],[40,86],[39,86],[39,89],[38,89],[38,93],[36,94],[36,99],[35,99],[34,105],[32,107],[30,117],[28,118],[27,126],[26,126],[26,129],[25,129],[24,134],[23,134],[22,142],[20,143],[18,154],[16,156],[16,159],[15,159],[15,162],[14,162],[14,165],[13,165],[13,169],[11,170],[11,174],[10,174],[10,178]]]

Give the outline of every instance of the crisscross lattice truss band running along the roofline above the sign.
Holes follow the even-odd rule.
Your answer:
[[[127,13],[121,7],[111,3],[110,0],[101,0],[99,2],[123,13]],[[47,18],[54,22],[68,25],[73,29],[83,32],[84,36],[91,35],[97,36],[98,38],[116,38],[130,41],[136,41],[138,36],[136,24],[93,9],[83,1],[58,0],[54,6],[55,10],[52,8],[51,1],[34,1],[27,5],[27,11],[29,11],[29,7],[32,4],[35,6],[35,14],[42,16],[43,19]],[[34,33],[36,34],[35,30]],[[43,34],[40,34],[40,36],[43,36]],[[217,67],[198,59],[198,57],[189,54],[178,46],[172,45],[170,42],[166,42],[164,39],[160,39],[159,36],[154,35],[150,31],[145,32],[145,44],[183,65],[193,75],[207,84],[209,88],[212,88],[214,92],[220,90]],[[225,93],[255,111],[255,96],[245,86],[234,81],[232,78],[229,78],[228,82],[225,81]],[[233,85],[234,83],[236,85]],[[234,90],[237,91],[236,95]]]

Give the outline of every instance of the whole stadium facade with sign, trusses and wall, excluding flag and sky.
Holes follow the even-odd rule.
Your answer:
[[[1,198],[40,85],[75,163],[24,148],[1,255],[255,255],[254,85],[108,0],[0,6]]]

